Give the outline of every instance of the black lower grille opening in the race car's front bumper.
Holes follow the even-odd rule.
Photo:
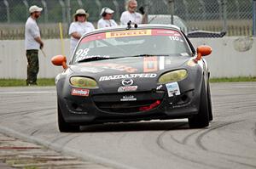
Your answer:
[[[134,113],[143,111],[143,107],[149,107],[157,100],[125,101],[125,102],[95,102],[98,109],[113,113]]]

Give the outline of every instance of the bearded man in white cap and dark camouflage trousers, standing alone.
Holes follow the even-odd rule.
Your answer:
[[[40,31],[37,21],[40,17],[43,8],[33,5],[29,8],[30,17],[26,20],[25,25],[25,48],[27,59],[27,78],[26,85],[37,85],[38,79],[38,49],[44,47],[44,42],[41,40]]]

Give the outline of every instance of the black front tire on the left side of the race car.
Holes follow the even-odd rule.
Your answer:
[[[64,120],[59,104],[58,104],[58,127],[60,132],[79,132],[80,131],[79,126],[70,125]]]

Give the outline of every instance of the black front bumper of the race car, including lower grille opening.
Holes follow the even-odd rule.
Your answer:
[[[72,87],[67,87],[63,95],[58,93],[58,104],[66,122],[81,125],[187,118],[197,114],[200,89],[182,83],[180,88],[181,94],[173,97],[168,97],[165,87],[134,93],[91,93],[89,97],[81,97],[70,95]]]

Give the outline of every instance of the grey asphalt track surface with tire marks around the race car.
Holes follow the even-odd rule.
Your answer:
[[[56,127],[55,87],[0,88],[0,132],[114,168],[256,168],[256,82],[212,83],[214,120]]]

